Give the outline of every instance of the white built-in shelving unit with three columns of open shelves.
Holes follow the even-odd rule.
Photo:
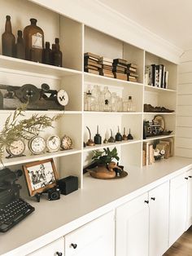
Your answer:
[[[23,10],[23,11],[20,11]],[[83,167],[89,163],[92,151],[106,147],[118,149],[120,165],[142,166],[142,132],[143,119],[153,119],[155,114],[164,115],[167,130],[173,130],[169,136],[174,137],[175,133],[175,113],[143,113],[143,104],[153,106],[164,106],[176,110],[176,89],[177,89],[177,64],[161,59],[159,56],[146,52],[137,46],[130,45],[118,38],[113,38],[96,29],[89,28],[85,24],[72,20],[64,15],[50,11],[45,7],[38,6],[30,1],[24,0],[2,0],[0,10],[1,17],[11,15],[13,33],[16,35],[18,29],[24,29],[29,24],[29,19],[37,19],[37,25],[43,29],[45,42],[55,42],[55,38],[60,38],[60,48],[63,52],[63,68],[46,64],[37,64],[27,60],[18,60],[0,55],[0,84],[22,86],[26,83],[41,87],[42,83],[47,83],[51,89],[64,89],[68,92],[69,103],[64,111],[26,111],[25,116],[29,117],[33,113],[46,114],[50,117],[61,114],[55,128],[41,132],[41,136],[47,138],[49,135],[68,135],[72,138],[73,149],[59,152],[45,152],[40,156],[32,156],[26,150],[25,157],[17,157],[3,160],[4,166],[22,165],[26,162],[44,160],[53,157],[60,177],[77,175],[79,187],[83,187]],[[3,19],[1,19],[3,20]],[[4,31],[4,22],[1,21],[0,33]],[[0,54],[2,46],[0,42]],[[90,73],[84,73],[84,52],[92,52],[97,55],[116,59],[122,58],[129,62],[136,63],[138,82],[127,82],[110,77],[102,77]],[[164,64],[169,71],[168,88],[161,89],[145,85],[144,71],[146,64]],[[132,95],[136,105],[134,113],[104,113],[84,111],[84,92],[87,85],[108,86],[110,90],[120,90],[121,95]],[[13,111],[0,110],[1,124]],[[89,139],[86,126],[89,126],[92,137],[96,133],[97,125],[102,138],[108,139],[110,129],[116,135],[117,127],[123,133],[133,135],[133,140],[117,143],[107,143],[94,147],[83,148],[83,143]],[[162,137],[150,138],[161,139]]]

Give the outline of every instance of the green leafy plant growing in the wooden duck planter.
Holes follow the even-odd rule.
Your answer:
[[[94,165],[107,165],[113,159],[116,161],[120,160],[118,157],[118,152],[116,148],[113,148],[111,151],[109,148],[103,148],[103,151],[94,150],[94,156],[92,157],[92,164]]]

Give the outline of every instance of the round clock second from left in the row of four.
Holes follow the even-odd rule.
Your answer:
[[[28,142],[28,148],[33,154],[41,154],[46,148],[46,141],[40,136],[35,136]]]

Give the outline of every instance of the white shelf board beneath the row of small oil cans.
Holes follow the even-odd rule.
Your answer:
[[[133,144],[133,143],[141,143],[142,140],[139,139],[133,139],[133,140],[124,140],[124,141],[119,141],[119,142],[115,142],[115,143],[103,143],[100,145],[95,145],[93,147],[86,147],[83,149],[84,152],[89,152],[92,150],[98,150],[98,149],[102,149],[102,148],[112,148],[112,147],[116,147],[116,146],[124,146],[124,145],[129,145],[129,144]]]

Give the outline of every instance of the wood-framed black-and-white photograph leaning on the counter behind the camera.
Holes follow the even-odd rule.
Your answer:
[[[52,158],[28,163],[23,166],[23,169],[30,196],[55,187],[58,174]]]

